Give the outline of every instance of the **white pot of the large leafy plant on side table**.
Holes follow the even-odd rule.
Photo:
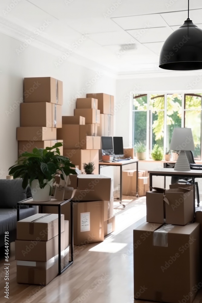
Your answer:
[[[46,183],[46,181],[47,180],[44,179],[44,183]],[[38,179],[33,180],[30,186],[33,201],[50,201],[53,181],[53,179],[51,181],[48,181],[48,184],[46,184],[44,188],[40,188]]]

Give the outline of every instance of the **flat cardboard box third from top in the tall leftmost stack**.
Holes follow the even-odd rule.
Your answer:
[[[57,139],[57,128],[55,127],[41,127],[28,126],[17,127],[18,141],[46,141]]]

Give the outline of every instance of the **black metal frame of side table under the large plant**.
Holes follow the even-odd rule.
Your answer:
[[[20,205],[30,205],[30,203],[26,203],[26,201],[30,200],[26,199],[20,202],[17,202],[17,221],[20,219]],[[70,218],[71,218],[71,261],[61,270],[61,206],[64,205],[65,203],[70,202]],[[33,205],[38,205],[40,206],[40,213],[43,213],[43,206],[57,206],[58,207],[58,275],[61,275],[69,266],[73,264],[73,253],[74,253],[74,248],[73,248],[73,201],[72,199],[65,200],[61,204],[43,204],[43,202],[36,202],[33,201]]]

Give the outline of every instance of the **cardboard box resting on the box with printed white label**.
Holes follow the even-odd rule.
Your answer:
[[[80,175],[74,201],[110,201],[111,178],[103,175]]]

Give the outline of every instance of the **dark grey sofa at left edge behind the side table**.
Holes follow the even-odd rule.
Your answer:
[[[0,248],[5,245],[5,231],[9,231],[9,242],[16,239],[17,202],[31,198],[30,188],[22,188],[22,179],[0,179]],[[20,220],[36,213],[35,206],[23,205]]]

